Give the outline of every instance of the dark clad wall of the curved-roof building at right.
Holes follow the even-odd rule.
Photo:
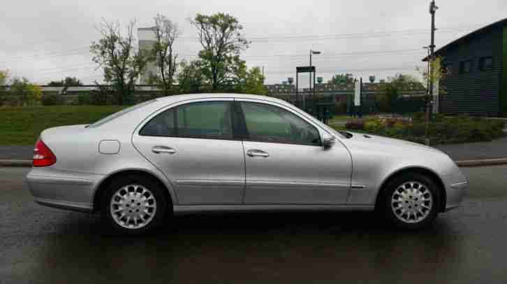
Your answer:
[[[444,64],[452,63],[451,74],[442,81],[445,94],[440,111],[446,114],[499,115],[503,28],[493,28],[440,52]],[[493,68],[480,70],[480,58],[491,56]],[[470,73],[460,73],[460,62],[471,60]]]

